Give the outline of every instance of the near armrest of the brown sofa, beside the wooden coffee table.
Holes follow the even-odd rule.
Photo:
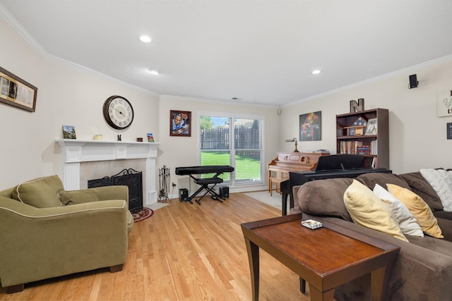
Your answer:
[[[318,219],[350,228],[374,238],[400,246],[389,283],[390,300],[450,300],[452,295],[452,242],[425,236],[407,235],[404,242],[390,235],[364,228],[342,219],[303,214],[303,219]],[[427,247],[417,245],[420,243]],[[434,245],[434,247],[432,247]],[[338,300],[370,300],[370,276],[340,285],[335,290]]]

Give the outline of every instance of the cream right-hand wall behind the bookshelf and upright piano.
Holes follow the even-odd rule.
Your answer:
[[[419,87],[408,89],[408,76],[417,74]],[[335,153],[335,115],[350,112],[350,100],[364,98],[364,109],[389,110],[389,157],[393,173],[420,168],[452,167],[452,140],[446,123],[452,116],[436,115],[436,94],[452,90],[452,57],[368,80],[283,108],[280,135],[298,137],[299,115],[322,111],[322,140],[299,142],[300,151],[329,149]],[[319,78],[321,80],[321,78]],[[291,145],[281,145],[290,151]]]

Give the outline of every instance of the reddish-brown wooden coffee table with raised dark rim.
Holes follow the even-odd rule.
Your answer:
[[[253,300],[259,297],[259,247],[309,283],[311,300],[334,300],[336,286],[371,274],[372,300],[386,300],[400,247],[321,219],[301,226],[302,214],[242,223]]]

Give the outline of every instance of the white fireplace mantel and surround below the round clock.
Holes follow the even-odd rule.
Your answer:
[[[102,178],[131,167],[143,171],[142,206],[157,202],[156,161],[157,147],[160,143],[78,139],[59,139],[56,142],[61,149],[61,180],[63,180],[64,189],[88,188],[88,179]],[[87,164],[89,167],[81,168],[82,164],[83,166]],[[103,171],[103,174],[97,174],[98,171],[107,167],[109,169]],[[83,175],[82,179],[81,169],[83,173],[92,174]]]

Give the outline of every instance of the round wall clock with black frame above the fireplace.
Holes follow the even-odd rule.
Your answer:
[[[124,97],[113,95],[104,102],[104,118],[108,125],[117,130],[124,130],[133,122],[133,107]]]

